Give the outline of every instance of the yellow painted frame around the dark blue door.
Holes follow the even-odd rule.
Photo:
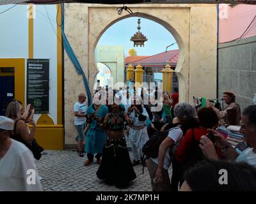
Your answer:
[[[15,99],[25,103],[25,59],[0,59],[0,67],[14,68]]]

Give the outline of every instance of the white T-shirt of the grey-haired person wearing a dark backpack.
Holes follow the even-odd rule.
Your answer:
[[[183,135],[183,133],[180,128],[173,128],[168,133],[168,137],[171,138],[175,143],[178,142],[180,140],[180,138],[182,138],[182,135]],[[163,168],[165,170],[168,170],[168,168],[171,166],[171,161],[172,161],[172,159],[171,159],[172,154],[170,154],[171,150],[172,150],[172,148],[168,147],[168,149],[166,149],[166,152],[165,152],[164,164],[163,164]],[[158,165],[158,157],[151,158],[151,159],[152,159],[152,161],[154,161],[154,163],[156,163]]]

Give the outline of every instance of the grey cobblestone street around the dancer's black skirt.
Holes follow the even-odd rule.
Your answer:
[[[45,152],[47,154],[36,161],[44,191],[151,191],[147,167],[143,174],[141,164],[134,166],[137,178],[131,182],[131,186],[117,189],[97,178],[99,164],[96,163],[96,159],[89,166],[83,166],[86,156],[79,157],[76,151]]]

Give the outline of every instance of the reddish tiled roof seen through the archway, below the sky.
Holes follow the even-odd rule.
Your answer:
[[[140,57],[140,56],[137,56]],[[156,55],[152,55],[149,57],[144,57],[143,59],[138,59],[137,61],[132,61],[132,65],[136,66],[138,63],[140,63],[141,65],[154,65],[154,64],[165,64],[167,61],[170,61],[170,65],[171,66],[176,66],[178,59],[179,59],[179,50],[169,50],[166,52],[161,52],[159,54]],[[126,63],[126,61],[125,61]],[[130,62],[131,63],[131,62]]]

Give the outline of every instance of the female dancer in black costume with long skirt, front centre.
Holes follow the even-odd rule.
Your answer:
[[[127,187],[136,178],[124,138],[125,120],[132,122],[120,105],[114,103],[101,125],[107,129],[107,139],[97,177],[118,188]]]

